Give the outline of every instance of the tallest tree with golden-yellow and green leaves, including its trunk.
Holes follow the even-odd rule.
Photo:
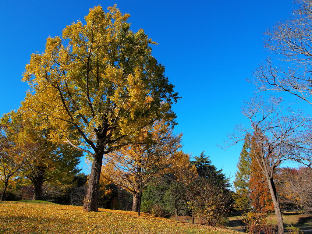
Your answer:
[[[50,139],[93,158],[85,211],[98,208],[103,155],[128,145],[126,136],[157,119],[173,121],[171,105],[178,99],[152,56],[156,43],[143,29],[130,30],[129,14],[108,9],[94,7],[85,25],[76,22],[62,37],[49,37],[23,78],[32,87],[23,105],[43,120],[42,128],[52,126]]]

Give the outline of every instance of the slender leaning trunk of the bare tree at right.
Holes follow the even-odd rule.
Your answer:
[[[270,178],[268,176],[266,176],[266,179],[269,185],[272,201],[274,204],[274,211],[275,211],[275,216],[277,220],[277,233],[284,234],[284,221],[283,221],[282,212],[280,210],[280,202],[277,196],[274,180],[273,180],[273,177]]]

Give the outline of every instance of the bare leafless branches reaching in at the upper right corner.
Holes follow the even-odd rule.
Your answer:
[[[265,48],[280,60],[268,58],[254,71],[259,90],[285,91],[312,104],[312,1],[298,0],[299,9],[288,20],[265,32]]]

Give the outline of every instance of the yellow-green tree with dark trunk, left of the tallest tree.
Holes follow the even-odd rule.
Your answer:
[[[37,119],[22,118],[24,129],[19,141],[27,143],[32,150],[27,154],[23,176],[34,185],[32,200],[41,200],[42,185],[45,182],[68,183],[79,170],[76,168],[83,156],[81,151],[69,145],[49,140],[52,129],[40,129]]]

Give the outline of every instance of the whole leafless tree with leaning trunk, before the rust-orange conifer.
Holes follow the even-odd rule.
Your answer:
[[[305,146],[305,143],[302,142],[302,135],[309,130],[306,128],[306,118],[303,113],[294,113],[290,109],[285,110],[281,106],[281,102],[281,98],[274,97],[266,102],[262,97],[251,98],[250,101],[245,102],[246,106],[242,108],[243,115],[250,120],[250,128],[239,128],[243,133],[242,136],[249,132],[257,141],[258,149],[251,146],[251,152],[258,155],[256,161],[266,177],[274,204],[279,234],[284,233],[284,226],[273,178],[275,169],[282,161],[289,158],[295,148]]]

